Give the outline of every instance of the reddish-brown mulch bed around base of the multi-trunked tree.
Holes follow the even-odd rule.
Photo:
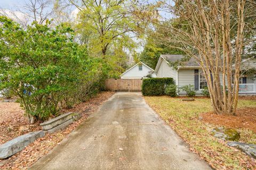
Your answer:
[[[227,126],[229,128],[245,128],[256,133],[256,109],[255,107],[246,107],[237,109],[236,116],[232,115],[217,115],[212,112],[202,113],[203,121]]]

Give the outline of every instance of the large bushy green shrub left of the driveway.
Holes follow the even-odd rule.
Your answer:
[[[99,90],[106,69],[74,43],[74,31],[33,23],[26,30],[0,16],[0,89],[20,97],[29,119],[45,120]]]

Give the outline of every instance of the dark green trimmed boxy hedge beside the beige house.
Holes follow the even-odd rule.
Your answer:
[[[143,96],[162,96],[165,95],[165,87],[174,84],[173,78],[150,78],[142,81]]]

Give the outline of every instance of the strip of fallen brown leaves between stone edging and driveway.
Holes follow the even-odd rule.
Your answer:
[[[39,158],[46,155],[55,146],[60,145],[70,132],[72,132],[78,125],[80,125],[86,118],[97,111],[98,108],[111,97],[114,92],[101,92],[99,95],[89,99],[88,101],[78,104],[71,109],[64,109],[62,113],[78,112],[82,114],[82,118],[70,124],[66,129],[52,134],[46,134],[45,137],[37,139],[22,151],[7,159],[0,159],[0,169],[28,169]]]

